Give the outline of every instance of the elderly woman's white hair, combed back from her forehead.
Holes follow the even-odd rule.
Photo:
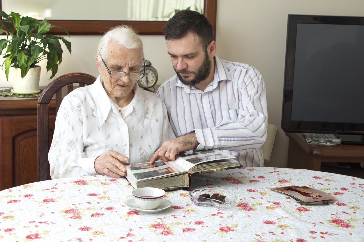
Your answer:
[[[111,41],[116,41],[127,49],[140,49],[142,52],[141,62],[143,61],[143,42],[131,26],[119,25],[106,32],[99,42],[96,55],[100,53],[102,58],[107,60],[109,57],[108,44]],[[98,55],[97,58],[99,60],[99,64],[102,64],[100,55]]]

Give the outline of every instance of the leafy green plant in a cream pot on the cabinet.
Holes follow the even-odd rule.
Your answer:
[[[6,34],[6,38],[0,39],[0,54],[5,58],[1,68],[5,65],[5,76],[8,81],[10,70],[13,69],[15,73],[13,74],[12,92],[19,94],[37,93],[39,92],[40,77],[38,62],[47,59],[47,73],[51,70],[52,76],[50,78],[52,78],[58,71],[58,65],[62,62],[63,50],[60,40],[71,53],[69,41],[62,36],[54,36],[47,32],[51,28],[58,28],[67,33],[68,36],[69,34],[67,30],[47,23],[46,19],[38,21],[14,12],[8,15],[1,9],[0,15],[3,17],[3,20],[0,21],[0,34]],[[5,52],[3,53],[4,49]],[[37,84],[31,84],[30,80],[25,80],[29,76],[36,76]],[[22,83],[25,86],[18,86]]]

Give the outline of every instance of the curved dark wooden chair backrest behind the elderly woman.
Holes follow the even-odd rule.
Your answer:
[[[74,72],[64,74],[53,80],[43,90],[37,106],[37,181],[48,180],[49,163],[49,104],[54,95],[56,95],[56,113],[62,102],[62,98],[66,96],[66,91],[62,95],[62,88],[67,86],[67,94],[74,90],[75,83],[79,86],[91,85],[95,82],[96,77],[89,74]],[[76,87],[77,88],[77,87]]]

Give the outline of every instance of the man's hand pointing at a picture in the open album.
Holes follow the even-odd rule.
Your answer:
[[[195,132],[183,134],[182,136],[164,142],[154,153],[149,164],[154,164],[158,157],[161,157],[163,161],[175,161],[175,156],[178,152],[195,149],[198,144]]]

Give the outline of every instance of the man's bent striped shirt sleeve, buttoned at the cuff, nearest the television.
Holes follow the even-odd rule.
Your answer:
[[[254,71],[246,74],[239,94],[237,110],[229,110],[226,118],[214,128],[195,129],[197,150],[249,150],[262,146],[266,140],[267,105],[265,84],[261,74]],[[221,100],[223,102],[223,100]]]

